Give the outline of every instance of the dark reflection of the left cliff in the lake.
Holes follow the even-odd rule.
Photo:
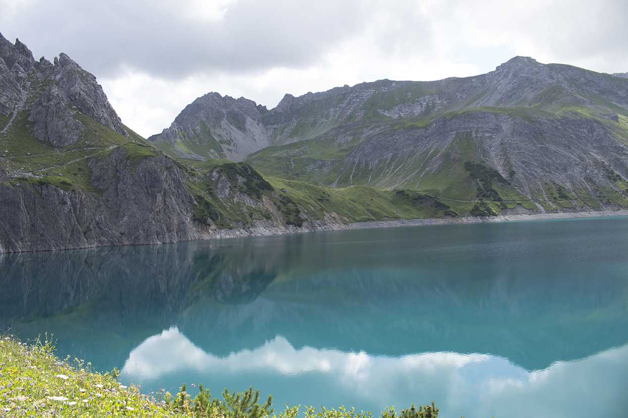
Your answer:
[[[216,252],[211,242],[0,254],[0,330],[53,334],[60,356],[98,370],[181,321],[190,304],[244,303],[273,281],[272,254]]]

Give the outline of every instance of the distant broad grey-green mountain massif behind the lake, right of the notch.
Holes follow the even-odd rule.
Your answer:
[[[345,85],[271,110],[210,93],[149,141],[332,189],[419,191],[462,214],[604,210],[628,206],[619,76],[517,56],[476,77]]]

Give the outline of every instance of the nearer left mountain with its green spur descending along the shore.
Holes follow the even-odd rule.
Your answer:
[[[67,55],[36,61],[26,45],[0,35],[0,254],[372,220],[324,188],[290,196],[289,185],[275,181],[275,188],[244,163],[196,165],[169,158],[124,126],[94,75]],[[408,208],[406,217],[443,214],[438,205],[426,210]]]

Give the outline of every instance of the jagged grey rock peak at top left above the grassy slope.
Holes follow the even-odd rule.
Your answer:
[[[11,116],[3,132],[23,110],[29,111],[33,136],[55,147],[77,141],[83,129],[77,111],[129,136],[94,75],[64,53],[54,65],[43,57],[36,62],[26,45],[12,45],[0,34],[0,114]]]

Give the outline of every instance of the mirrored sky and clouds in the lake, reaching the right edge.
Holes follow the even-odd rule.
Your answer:
[[[173,360],[165,363],[163,357]],[[155,380],[167,384],[202,378],[215,394],[225,382],[259,375],[273,382],[263,389],[279,394],[276,405],[317,405],[323,394],[341,392],[344,404],[372,411],[438,399],[443,416],[527,418],[534,411],[534,416],[547,417],[620,417],[628,407],[628,345],[528,371],[505,358],[475,353],[391,357],[295,349],[283,336],[252,350],[216,356],[171,328],[134,348],[122,368],[126,381],[152,386]]]

